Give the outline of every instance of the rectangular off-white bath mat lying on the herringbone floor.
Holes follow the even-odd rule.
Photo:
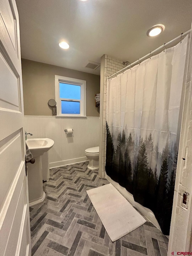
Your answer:
[[[87,190],[87,194],[113,242],[146,222],[112,184]]]

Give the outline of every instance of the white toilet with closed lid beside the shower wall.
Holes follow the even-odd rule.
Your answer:
[[[95,170],[99,168],[99,147],[85,149],[85,155],[89,160],[88,168]]]

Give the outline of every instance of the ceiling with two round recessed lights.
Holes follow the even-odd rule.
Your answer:
[[[85,68],[103,54],[134,62],[191,28],[191,0],[16,0],[21,56],[100,74]],[[164,24],[162,34],[146,32]],[[70,48],[63,50],[59,42]]]

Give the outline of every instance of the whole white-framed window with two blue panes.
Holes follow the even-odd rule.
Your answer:
[[[86,81],[55,75],[58,116],[86,116]]]

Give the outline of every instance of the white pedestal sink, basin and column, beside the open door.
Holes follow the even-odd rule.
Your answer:
[[[35,158],[34,164],[28,164],[29,206],[33,206],[42,203],[45,199],[41,155],[52,148],[54,141],[48,138],[40,138],[27,139],[26,143]]]

